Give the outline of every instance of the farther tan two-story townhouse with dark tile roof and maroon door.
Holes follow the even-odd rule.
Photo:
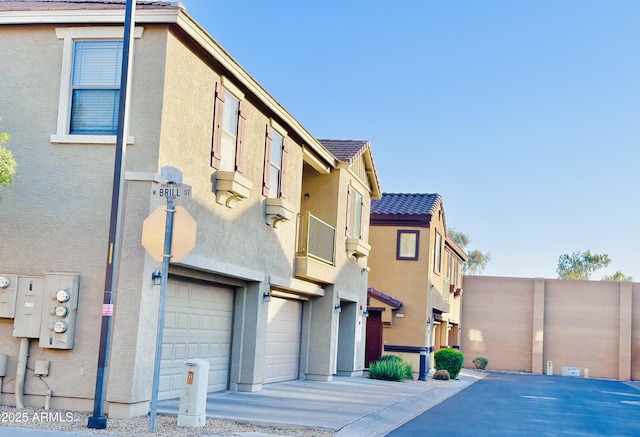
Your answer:
[[[458,347],[464,251],[447,236],[439,194],[384,193],[371,205],[365,365],[397,354],[419,366],[421,348]]]

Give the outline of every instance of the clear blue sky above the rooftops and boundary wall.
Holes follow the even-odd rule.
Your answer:
[[[640,1],[182,0],[384,192],[439,193],[485,275],[590,249],[640,281]]]

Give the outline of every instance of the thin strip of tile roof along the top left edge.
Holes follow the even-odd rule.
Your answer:
[[[0,10],[122,9],[126,0],[2,0]],[[177,2],[137,0],[136,8],[177,8]]]

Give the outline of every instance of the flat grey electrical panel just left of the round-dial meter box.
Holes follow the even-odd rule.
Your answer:
[[[14,337],[40,337],[43,290],[44,278],[42,277],[20,276],[18,278],[16,312],[13,319]]]

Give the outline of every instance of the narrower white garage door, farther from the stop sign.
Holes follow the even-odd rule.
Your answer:
[[[302,303],[272,297],[269,302],[264,382],[298,379]]]

